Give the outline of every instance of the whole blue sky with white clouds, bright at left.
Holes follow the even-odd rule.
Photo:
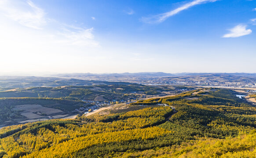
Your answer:
[[[0,74],[256,72],[256,0],[0,0]]]

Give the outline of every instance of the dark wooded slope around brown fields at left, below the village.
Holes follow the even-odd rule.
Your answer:
[[[83,101],[60,98],[0,98],[0,127],[66,117],[86,106]]]

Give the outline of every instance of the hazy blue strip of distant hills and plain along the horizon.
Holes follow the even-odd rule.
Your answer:
[[[181,83],[183,82],[183,83]],[[256,73],[164,73],[164,72],[138,72],[138,73],[70,73],[56,74],[48,77],[35,76],[0,76],[0,88],[26,88],[38,86],[91,86],[110,84],[186,84],[196,85],[198,82],[206,83],[256,83]]]

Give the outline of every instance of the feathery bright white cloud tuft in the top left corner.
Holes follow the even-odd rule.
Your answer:
[[[12,6],[4,0],[1,2],[0,10],[4,12],[5,16],[21,25],[33,29],[42,29],[42,26],[47,23],[44,10],[37,7],[31,0],[27,0],[24,7],[28,7],[28,9]]]

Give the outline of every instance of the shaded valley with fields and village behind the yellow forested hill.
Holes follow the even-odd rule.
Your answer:
[[[109,82],[108,82],[109,83]],[[2,88],[0,127],[54,118],[73,118],[88,110],[150,97],[175,95],[194,87],[109,85]]]

